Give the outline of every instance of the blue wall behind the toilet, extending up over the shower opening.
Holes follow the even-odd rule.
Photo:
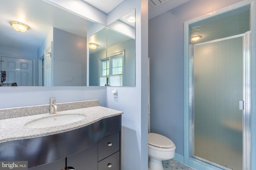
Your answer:
[[[149,20],[151,132],[170,138],[184,155],[183,23],[240,0],[190,0]]]

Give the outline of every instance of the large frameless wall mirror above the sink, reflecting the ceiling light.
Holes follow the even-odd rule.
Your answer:
[[[0,74],[6,79],[2,84],[88,85],[88,37],[92,30],[103,29],[100,39],[106,44],[106,26],[42,0],[5,0],[0,11],[1,71],[6,72],[6,76]],[[29,28],[20,33],[10,21],[25,23]]]

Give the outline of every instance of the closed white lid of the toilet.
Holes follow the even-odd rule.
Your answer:
[[[148,144],[160,148],[174,147],[174,143],[169,138],[157,133],[148,133]]]

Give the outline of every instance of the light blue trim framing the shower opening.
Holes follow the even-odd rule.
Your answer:
[[[189,25],[195,22],[198,22],[200,20],[204,20],[206,18],[210,18],[214,15],[219,15],[226,13],[230,10],[234,10],[236,8],[240,8],[242,6],[250,5],[250,28],[251,28],[251,38],[250,41],[248,42],[251,44],[251,47],[249,47],[250,50],[247,51],[246,54],[244,55],[250,55],[249,57],[244,57],[244,58],[249,58],[249,64],[245,65],[247,71],[249,72],[250,76],[246,77],[246,81],[249,80],[249,85],[246,85],[248,87],[247,92],[246,92],[246,97],[247,100],[251,102],[251,104],[246,105],[245,110],[247,111],[246,115],[243,116],[245,119],[246,123],[243,125],[243,129],[246,129],[246,135],[243,135],[243,140],[244,137],[246,138],[246,150],[243,149],[243,170],[250,170],[250,167],[254,167],[256,163],[251,161],[251,159],[255,158],[256,153],[252,152],[250,153],[250,147],[251,143],[255,141],[256,139],[250,137],[251,133],[251,127],[255,127],[256,121],[252,120],[250,122],[250,117],[256,115],[256,111],[254,109],[256,105],[256,100],[254,99],[254,96],[251,94],[254,94],[253,92],[256,90],[255,86],[256,83],[254,78],[256,76],[256,66],[255,66],[255,61],[256,61],[256,53],[255,53],[255,39],[256,39],[256,34],[255,34],[255,29],[256,29],[256,23],[254,23],[254,20],[256,18],[255,14],[255,0],[243,0],[241,2],[238,2],[236,4],[233,4],[231,6],[228,6],[226,8],[222,8],[220,10],[217,10],[214,12],[212,15],[204,15],[200,16],[198,18],[189,20],[184,22],[184,163],[187,164],[188,166],[191,166],[193,168],[196,168],[198,170],[204,169],[206,167],[208,168],[214,168],[216,169],[217,167],[208,164],[202,160],[198,160],[194,157],[192,157],[193,152],[193,143],[191,141],[193,140],[193,134],[192,134],[192,128],[193,128],[193,118],[192,118],[192,109],[193,109],[193,103],[192,103],[192,50],[191,50],[191,45],[189,45],[190,42],[190,28]],[[246,42],[248,39],[246,39]],[[254,165],[253,165],[254,164]],[[217,168],[218,169],[218,168]],[[219,168],[221,169],[221,168]]]

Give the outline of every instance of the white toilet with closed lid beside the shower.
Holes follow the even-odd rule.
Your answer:
[[[168,160],[175,155],[174,143],[163,135],[148,133],[148,168],[164,170],[162,160]]]

